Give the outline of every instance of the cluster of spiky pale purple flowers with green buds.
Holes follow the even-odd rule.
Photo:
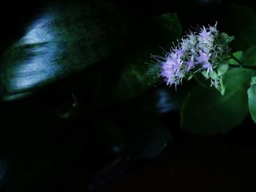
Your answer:
[[[224,93],[222,75],[227,71],[228,65],[223,58],[230,53],[228,44],[233,40],[225,33],[220,33],[215,26],[200,28],[190,32],[173,45],[165,57],[153,55],[160,64],[160,76],[167,85],[181,84],[183,79],[191,79],[200,72],[210,80],[219,91]]]

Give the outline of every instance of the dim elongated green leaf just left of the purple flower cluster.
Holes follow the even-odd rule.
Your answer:
[[[154,18],[150,27],[152,30],[148,31],[148,26],[145,26],[143,30],[147,32],[141,34],[143,41],[138,42],[138,46],[131,51],[129,58],[124,59],[125,67],[116,87],[113,88],[113,98],[133,99],[159,82],[159,65],[152,64],[150,54],[159,53],[159,45],[172,46],[171,43],[181,36],[181,25],[177,15],[164,14]],[[157,45],[154,40],[157,40]],[[163,53],[159,53],[159,55],[163,55]],[[152,66],[146,63],[152,64]]]

